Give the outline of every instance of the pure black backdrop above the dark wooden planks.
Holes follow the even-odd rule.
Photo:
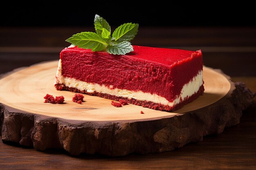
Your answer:
[[[143,5],[137,2],[4,2],[2,7],[6,9],[2,8],[0,12],[0,26],[93,26],[95,14],[105,18],[111,26],[125,22],[136,22],[140,26],[256,26],[255,7],[245,1],[174,4],[157,0]]]

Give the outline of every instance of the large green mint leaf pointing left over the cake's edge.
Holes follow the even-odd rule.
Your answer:
[[[97,33],[81,32],[68,38],[66,42],[83,49],[92,49],[92,51],[102,51],[108,45]]]

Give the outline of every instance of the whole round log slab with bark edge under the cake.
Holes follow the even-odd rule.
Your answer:
[[[64,148],[71,155],[163,152],[238,124],[242,110],[255,96],[243,83],[233,83],[221,71],[204,67],[204,95],[180,110],[132,104],[116,108],[111,100],[90,95],[84,95],[83,104],[76,104],[72,102],[75,93],[54,88],[57,66],[57,61],[36,64],[0,79],[3,141],[38,150]],[[63,95],[65,103],[43,103],[47,93]]]

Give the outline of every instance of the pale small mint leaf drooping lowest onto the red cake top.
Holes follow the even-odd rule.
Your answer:
[[[126,53],[130,53],[131,51],[133,51],[132,45],[127,41],[107,47],[107,52],[110,54],[124,55]]]

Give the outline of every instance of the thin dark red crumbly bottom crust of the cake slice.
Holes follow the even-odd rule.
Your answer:
[[[93,95],[93,96],[103,97],[103,98],[106,98],[106,99],[115,100],[115,101],[119,101],[119,99],[124,99],[126,102],[128,102],[130,104],[135,104],[137,106],[142,106],[142,107],[151,108],[151,109],[154,109],[154,110],[162,110],[162,111],[164,111],[164,110],[165,111],[173,111],[173,110],[177,110],[179,108],[182,108],[185,104],[193,102],[193,100],[198,98],[204,92],[204,86],[202,85],[199,88],[197,93],[194,93],[191,97],[186,97],[183,101],[180,101],[179,104],[171,107],[171,106],[168,106],[168,105],[149,102],[149,101],[146,101],[146,100],[140,101],[140,100],[136,100],[136,99],[128,99],[127,97],[117,97],[117,96],[109,95],[109,94],[106,94],[106,93],[98,93],[98,92],[88,93],[86,90],[81,91],[77,88],[72,88],[72,87],[65,86],[65,84],[55,84],[55,87],[56,87],[57,90],[65,90],[65,91],[72,91],[72,92],[76,92],[76,93],[84,93],[84,94],[88,94],[88,95]]]

